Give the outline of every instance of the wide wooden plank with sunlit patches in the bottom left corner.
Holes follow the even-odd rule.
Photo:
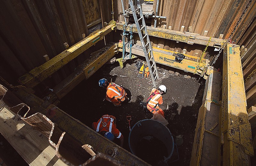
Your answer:
[[[7,108],[0,109],[0,131],[30,166],[66,165],[55,155],[55,148],[46,136],[25,121],[12,118],[14,116]]]

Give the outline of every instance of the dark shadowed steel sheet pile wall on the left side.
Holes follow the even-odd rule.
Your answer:
[[[102,10],[98,0],[0,1],[1,77],[16,85],[20,76],[46,62],[44,55],[51,59],[66,49],[65,42],[72,46],[88,36],[87,26],[101,23],[102,15],[109,21],[109,3],[100,2]],[[91,51],[54,73],[49,84],[66,78]]]

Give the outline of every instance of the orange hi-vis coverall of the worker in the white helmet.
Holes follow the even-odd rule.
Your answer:
[[[163,96],[159,93],[159,91],[156,88],[153,88],[150,92],[150,95],[147,100],[147,109],[151,113],[159,113],[164,117],[164,111],[161,109],[158,104],[163,104]]]

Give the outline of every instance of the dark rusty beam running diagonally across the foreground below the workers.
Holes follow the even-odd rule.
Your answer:
[[[43,101],[36,95],[31,94],[27,89],[23,87],[16,88],[13,90],[13,93],[19,97],[22,102],[30,106],[31,113],[40,112],[44,114],[56,124],[61,131],[67,132],[81,145],[89,144],[99,152],[110,155],[124,165],[149,165],[137,156],[93,131],[79,120],[71,117],[63,110],[52,104],[49,105],[47,101]],[[27,116],[30,116],[30,114]]]

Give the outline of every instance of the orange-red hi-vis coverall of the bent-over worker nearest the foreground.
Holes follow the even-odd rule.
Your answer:
[[[92,123],[92,129],[96,132],[111,132],[116,138],[123,138],[123,135],[116,128],[116,118],[112,115],[103,115],[98,122]]]

